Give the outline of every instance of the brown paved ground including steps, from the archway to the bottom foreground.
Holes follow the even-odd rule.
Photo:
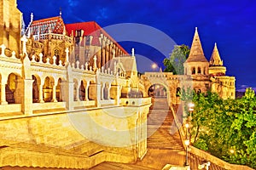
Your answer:
[[[90,170],[159,170],[166,164],[182,166],[185,161],[185,151],[176,126],[173,124],[172,111],[166,99],[155,99],[148,114],[148,153],[143,160],[135,164],[103,162]],[[174,125],[174,124],[173,124]],[[192,170],[198,169],[200,157],[189,154],[189,165]],[[0,167],[1,170],[57,170],[59,168],[38,167]],[[210,170],[222,170],[211,163]],[[71,170],[71,169],[68,169]]]

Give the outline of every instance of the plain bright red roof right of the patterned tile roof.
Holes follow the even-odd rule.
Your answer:
[[[70,36],[73,33],[75,33],[76,30],[83,30],[84,35],[81,35],[82,37],[84,36],[89,36],[91,35],[92,38],[92,45],[100,46],[100,40],[98,37],[101,37],[101,34],[104,34],[106,37],[108,37],[112,42],[114,42],[125,54],[128,54],[124,48],[122,48],[118,42],[116,42],[112,37],[108,35],[106,31],[102,29],[101,26],[99,26],[95,21],[90,21],[90,22],[80,22],[80,23],[73,23],[73,24],[66,24],[66,30],[68,36]]]

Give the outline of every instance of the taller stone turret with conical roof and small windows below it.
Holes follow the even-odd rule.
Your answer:
[[[195,35],[191,45],[189,58],[183,65],[185,75],[208,75],[209,62],[207,61],[201,47],[197,27],[195,27]]]

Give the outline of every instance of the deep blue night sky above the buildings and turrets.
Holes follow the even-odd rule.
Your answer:
[[[61,7],[66,24],[91,20],[102,27],[138,23],[163,31],[177,44],[189,46],[197,26],[206,58],[210,59],[214,42],[217,42],[227,75],[236,77],[236,88],[256,88],[254,0],[17,0],[17,3],[24,14],[26,26],[31,13],[34,20],[40,20],[59,15]],[[148,34],[149,37],[154,41],[154,35]],[[165,55],[157,49],[141,42],[119,43],[126,51],[135,48],[136,55],[146,56],[163,67]],[[172,52],[173,44],[165,46],[167,55]]]

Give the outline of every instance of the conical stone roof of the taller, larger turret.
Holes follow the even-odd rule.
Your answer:
[[[193,38],[193,42],[190,48],[189,58],[186,62],[208,62],[203,49],[201,48],[201,41],[197,31],[197,27],[195,27],[195,35]]]

